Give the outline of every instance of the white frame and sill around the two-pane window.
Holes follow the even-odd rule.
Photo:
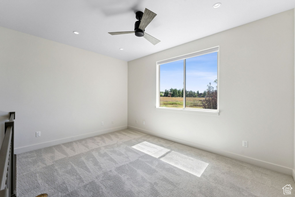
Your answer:
[[[217,52],[217,110],[212,109],[199,109],[199,108],[188,108],[186,107],[186,59],[201,56],[208,53]],[[166,108],[160,107],[160,65],[166,64],[173,61],[183,60],[183,108]],[[160,110],[168,110],[168,111],[179,111],[179,112],[188,112],[188,113],[204,113],[204,114],[211,114],[211,115],[219,115],[219,46],[214,48],[209,48],[203,51],[198,51],[195,53],[186,54],[183,56],[175,57],[166,59],[163,61],[157,62],[157,82],[156,82],[156,109]]]

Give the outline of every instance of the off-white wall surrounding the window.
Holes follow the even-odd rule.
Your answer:
[[[156,109],[156,62],[216,46],[219,116]],[[291,174],[293,9],[128,62],[128,126]]]

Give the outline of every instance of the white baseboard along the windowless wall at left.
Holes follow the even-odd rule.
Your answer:
[[[86,134],[82,134],[82,135],[78,135],[78,136],[72,136],[72,137],[63,138],[63,139],[47,141],[47,142],[43,142],[40,144],[24,146],[24,147],[14,149],[14,154],[19,154],[19,153],[23,153],[23,152],[32,151],[32,150],[42,149],[42,148],[49,147],[49,146],[55,146],[55,145],[67,143],[70,141],[75,141],[75,140],[89,138],[89,137],[93,137],[93,136],[97,136],[97,135],[101,135],[101,134],[105,134],[105,133],[123,130],[126,128],[127,128],[127,126],[120,126],[120,127],[116,127],[116,128],[102,130],[102,131],[96,131],[93,133],[86,133]]]

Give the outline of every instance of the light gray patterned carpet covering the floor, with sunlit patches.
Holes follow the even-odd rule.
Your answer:
[[[133,146],[133,147],[132,147]],[[17,155],[17,196],[284,196],[293,178],[130,129]]]

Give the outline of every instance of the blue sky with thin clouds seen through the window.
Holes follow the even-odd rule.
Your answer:
[[[217,52],[186,59],[186,89],[204,92],[209,82],[215,88]],[[160,65],[160,91],[183,88],[183,60]]]

